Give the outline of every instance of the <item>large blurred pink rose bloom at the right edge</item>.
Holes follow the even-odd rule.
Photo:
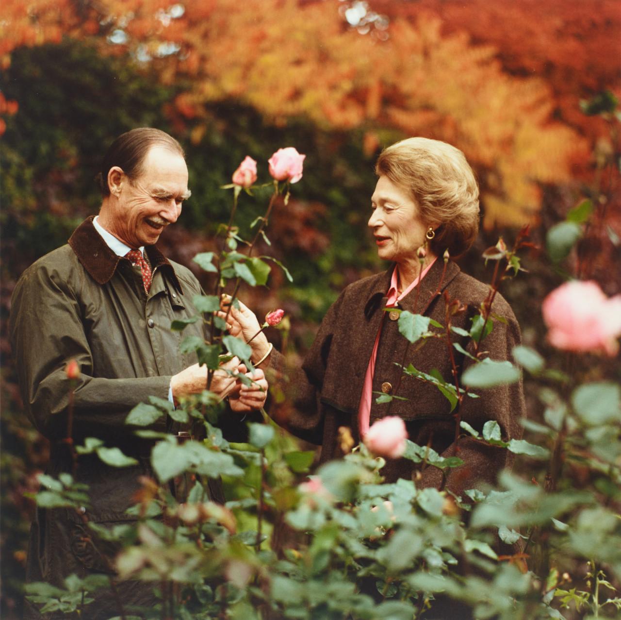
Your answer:
[[[542,306],[548,340],[557,349],[615,355],[621,335],[621,295],[607,298],[594,281],[573,280],[552,291]]]

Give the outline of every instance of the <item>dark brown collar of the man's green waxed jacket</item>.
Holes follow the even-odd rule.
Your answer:
[[[116,268],[124,257],[117,256],[108,247],[101,235],[93,226],[94,216],[87,217],[74,231],[69,239],[69,245],[78,257],[84,269],[88,271],[93,280],[104,285],[112,278]],[[183,294],[181,284],[175,274],[175,269],[155,245],[145,245],[151,268],[164,269],[170,275],[175,288]]]

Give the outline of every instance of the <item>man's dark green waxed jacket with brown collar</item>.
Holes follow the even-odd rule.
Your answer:
[[[68,245],[24,271],[11,304],[9,327],[25,413],[50,440],[48,473],[71,471],[60,440],[67,432],[70,382],[65,367],[72,358],[80,370],[73,406],[75,444],[97,437],[138,460],[138,465],[114,468],[96,455],[79,457],[76,477],[89,485],[90,506],[83,515],[63,508],[37,511],[27,580],[55,585],[70,573],[109,571],[84,542],[89,532],[83,517],[104,526],[134,518],[125,511],[140,488],[139,477],[153,476],[153,442],[138,439],[125,417],[149,396],[167,399],[171,376],[196,362],[194,354],[179,353],[182,336],[170,329],[171,321],[197,313],[192,300],[202,291],[191,271],[167,260],[155,246],[147,247],[153,271],[147,295],[140,271],[112,252],[92,220],[75,230]],[[202,337],[202,321],[183,332],[193,334]],[[180,430],[165,417],[152,428],[173,434]],[[222,499],[218,495],[214,485],[212,496]],[[136,584],[120,589],[128,603],[148,603],[151,596],[150,588]],[[93,618],[99,611],[102,618],[117,614],[110,597],[89,606]],[[39,617],[29,613],[27,618]]]

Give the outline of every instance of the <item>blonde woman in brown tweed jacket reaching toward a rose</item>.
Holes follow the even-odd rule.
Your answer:
[[[261,333],[250,343],[255,362],[267,359],[277,376],[286,377],[286,393],[294,414],[286,427],[303,439],[322,445],[321,460],[338,457],[338,429],[345,426],[355,439],[363,438],[369,424],[384,416],[406,422],[409,438],[427,445],[443,457],[456,453],[464,461],[450,470],[446,480],[434,467],[416,469],[403,458],[391,460],[382,470],[388,481],[414,477],[417,486],[440,487],[463,493],[481,481],[493,482],[498,470],[509,465],[510,453],[473,437],[456,443],[456,416],[437,386],[410,376],[402,377],[399,364],[410,363],[424,373],[439,371],[450,381],[452,365],[445,339],[427,339],[409,345],[399,333],[398,308],[424,314],[446,324],[446,304],[459,301],[463,309],[452,324],[469,331],[489,287],[462,273],[450,257],[468,250],[478,232],[479,190],[463,153],[438,140],[410,138],[386,148],[376,165],[378,182],[371,197],[368,226],[378,255],[390,261],[388,270],[363,278],[345,288],[330,306],[302,368],[287,373],[283,355],[271,350]],[[520,330],[509,304],[497,294],[492,305],[491,334],[481,350],[493,360],[506,360],[520,342]],[[498,320],[504,317],[503,320]],[[490,319],[491,321],[491,319]],[[258,321],[245,306],[232,309],[229,322],[234,335],[247,340],[258,331]],[[437,328],[432,328],[437,329]],[[462,332],[463,333],[463,332]],[[452,333],[468,353],[473,342]],[[453,349],[459,375],[473,360]],[[379,393],[400,398],[376,403]],[[496,420],[503,439],[520,436],[524,413],[521,383],[478,391],[466,396],[459,417],[481,431]]]

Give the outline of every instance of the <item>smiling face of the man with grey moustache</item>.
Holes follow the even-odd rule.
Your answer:
[[[114,193],[114,192],[113,192]],[[122,175],[111,199],[109,217],[102,225],[132,248],[153,245],[162,230],[181,215],[181,204],[189,198],[188,167],[179,155],[153,146],[133,180]]]

